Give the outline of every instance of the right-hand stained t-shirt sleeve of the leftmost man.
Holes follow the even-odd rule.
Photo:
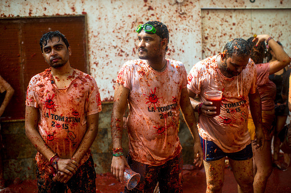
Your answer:
[[[89,88],[88,107],[86,111],[86,116],[96,114],[101,110],[102,108],[99,89],[95,79],[92,77],[92,86],[91,88]]]

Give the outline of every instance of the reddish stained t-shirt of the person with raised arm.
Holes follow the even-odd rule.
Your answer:
[[[276,85],[269,79],[270,63],[256,64],[256,68],[262,110],[272,110],[275,108]]]

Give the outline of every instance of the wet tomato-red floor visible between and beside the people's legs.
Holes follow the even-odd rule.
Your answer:
[[[183,171],[184,193],[203,193],[206,190],[206,178],[204,169]],[[111,175],[111,173],[97,174],[97,193],[122,193],[123,186]],[[20,182],[6,182],[6,192],[0,193],[37,193],[36,180],[24,180]],[[70,191],[69,191],[70,192]],[[237,182],[230,168],[225,169],[224,186],[222,193],[237,193]],[[273,172],[267,182],[266,193],[291,193],[291,166],[283,172],[273,168]]]

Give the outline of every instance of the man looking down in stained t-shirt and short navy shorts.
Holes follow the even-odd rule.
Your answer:
[[[188,92],[199,113],[198,131],[204,152],[206,192],[221,192],[225,157],[233,169],[239,192],[253,192],[251,140],[247,129],[248,106],[256,126],[254,145],[264,146],[261,98],[250,46],[236,38],[223,52],[195,64],[188,74]],[[205,92],[222,91],[220,114],[206,101]],[[198,96],[199,101],[195,99]]]

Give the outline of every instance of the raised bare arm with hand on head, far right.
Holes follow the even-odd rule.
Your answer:
[[[263,41],[267,41],[267,39],[270,38],[269,35],[258,35],[256,39],[253,41],[258,40],[257,45]],[[287,55],[287,53],[283,50],[282,46],[276,43],[273,39],[270,39],[268,41],[268,45],[271,48],[271,50],[274,52],[274,55],[277,60],[270,62],[270,71],[269,74],[274,74],[278,72],[279,70],[283,69],[285,66],[289,65],[291,62],[291,59]]]

